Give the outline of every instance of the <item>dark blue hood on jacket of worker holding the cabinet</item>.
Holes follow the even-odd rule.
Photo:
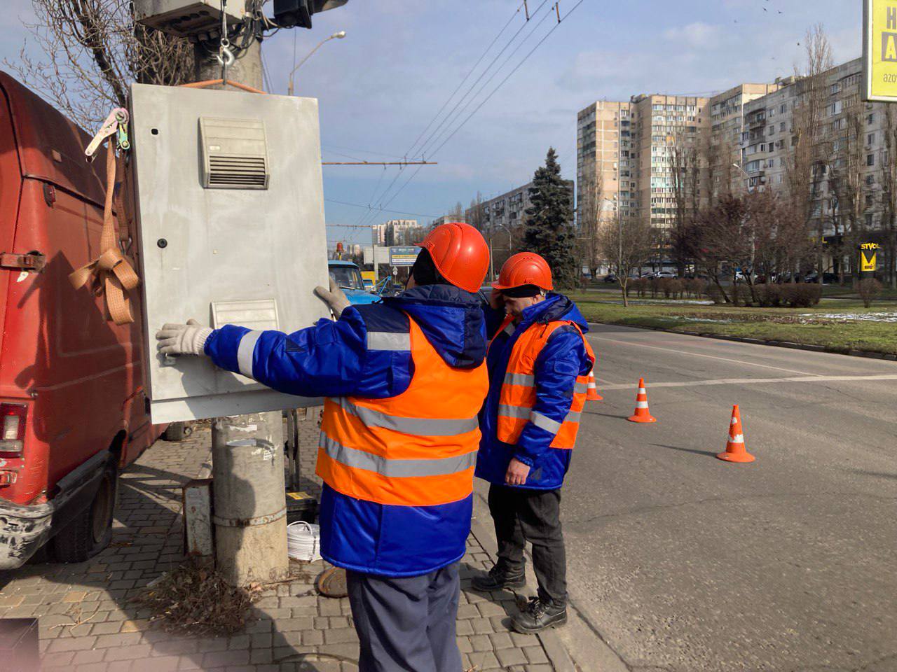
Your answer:
[[[426,285],[385,297],[383,303],[411,315],[448,366],[483,363],[486,326],[479,297],[452,285]]]

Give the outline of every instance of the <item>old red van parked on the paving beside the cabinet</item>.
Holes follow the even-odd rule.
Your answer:
[[[106,547],[118,470],[165,429],[144,403],[140,297],[116,326],[68,280],[100,250],[105,149],[88,163],[90,141],[0,73],[0,569],[47,542],[59,562]]]

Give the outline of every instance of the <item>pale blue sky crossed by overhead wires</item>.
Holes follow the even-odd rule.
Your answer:
[[[560,0],[562,16],[577,1]],[[483,63],[491,62],[522,27],[522,12],[515,14],[520,2],[350,0],[315,16],[313,30],[283,30],[267,40],[267,70],[274,92],[285,93],[294,43],[301,58],[318,40],[345,30],[346,39],[331,41],[302,67],[297,92],[320,100],[326,160],[389,160],[412,149],[501,28],[510,21]],[[528,0],[530,9],[540,2]],[[546,2],[523,27],[518,41],[529,36],[527,42],[459,119],[552,28],[555,21],[547,14],[553,2]],[[15,17],[30,18],[30,0],[5,0],[4,5],[9,9],[0,25],[0,58],[15,59],[27,34]],[[590,102],[628,99],[640,92],[707,95],[738,82],[788,75],[803,57],[797,43],[815,22],[828,30],[836,62],[849,60],[860,53],[860,10],[859,0],[583,0],[432,157],[440,165],[420,169],[401,192],[414,168],[405,168],[395,183],[396,168],[325,168],[327,222],[370,224],[394,217],[426,222],[458,201],[467,205],[477,191],[488,197],[526,183],[549,146],[558,151],[565,177],[573,178],[576,113]],[[481,70],[482,65],[462,93]],[[440,142],[434,139],[432,149]],[[379,196],[390,183],[392,189]],[[395,213],[335,202],[376,206],[390,198],[386,207]],[[330,237],[370,239],[361,230],[336,227]]]

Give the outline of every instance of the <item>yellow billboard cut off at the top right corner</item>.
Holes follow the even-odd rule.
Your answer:
[[[865,100],[897,102],[897,0],[863,0]]]

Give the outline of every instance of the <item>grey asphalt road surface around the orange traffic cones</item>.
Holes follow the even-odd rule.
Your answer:
[[[605,401],[562,502],[579,668],[897,670],[897,363],[589,340]],[[655,425],[624,419],[641,375]],[[735,403],[752,464],[714,458]]]

